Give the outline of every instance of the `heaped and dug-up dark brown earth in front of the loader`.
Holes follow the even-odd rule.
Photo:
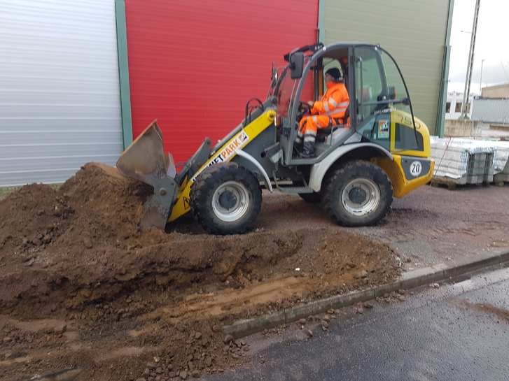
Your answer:
[[[1,380],[74,366],[76,380],[215,373],[249,351],[221,326],[401,271],[389,245],[316,220],[297,196],[264,194],[253,231],[211,236],[189,217],[140,229],[151,192],[89,163],[58,190],[27,185],[0,201]]]

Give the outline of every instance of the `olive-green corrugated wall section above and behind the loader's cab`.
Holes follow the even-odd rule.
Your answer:
[[[435,131],[449,0],[322,0],[325,43],[379,43],[398,62],[414,113]]]

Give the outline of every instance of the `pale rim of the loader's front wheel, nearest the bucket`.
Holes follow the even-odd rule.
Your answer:
[[[212,210],[225,222],[239,220],[248,208],[249,189],[239,182],[224,182],[212,196]]]

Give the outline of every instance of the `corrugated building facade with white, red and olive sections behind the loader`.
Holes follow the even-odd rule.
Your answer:
[[[440,134],[452,3],[0,0],[0,187],[114,165],[155,119],[185,161],[265,99],[272,62],[316,41],[379,43]]]

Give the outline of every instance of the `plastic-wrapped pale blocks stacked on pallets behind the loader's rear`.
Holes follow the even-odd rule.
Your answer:
[[[440,184],[489,184],[504,172],[509,177],[507,141],[432,136],[431,157],[435,160],[433,182]]]

